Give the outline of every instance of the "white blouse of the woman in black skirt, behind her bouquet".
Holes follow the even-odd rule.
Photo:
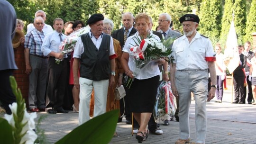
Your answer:
[[[155,36],[154,38],[157,41],[161,41],[158,36],[154,35],[153,33],[150,33],[150,36],[151,35]],[[161,73],[160,73],[158,64],[155,62],[149,62],[141,69],[138,69],[136,67],[136,61],[134,59],[134,56],[130,53],[130,47],[135,46],[136,43],[138,44],[138,41],[135,36],[137,36],[140,39],[140,36],[138,36],[138,32],[137,32],[135,35],[127,38],[127,41],[123,48],[123,52],[126,52],[129,54],[128,66],[129,66],[130,70],[135,74],[135,78],[139,79],[139,80],[143,80],[143,79],[152,78],[156,75],[160,75]],[[136,41],[136,43],[135,43],[135,41]]]

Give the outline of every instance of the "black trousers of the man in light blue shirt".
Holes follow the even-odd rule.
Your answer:
[[[46,91],[46,108],[61,108],[67,81],[67,59],[59,64],[50,57],[48,62],[48,85]]]

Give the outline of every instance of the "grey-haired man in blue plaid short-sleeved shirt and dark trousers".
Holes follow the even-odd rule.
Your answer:
[[[24,45],[26,73],[29,75],[28,105],[31,112],[40,112],[46,111],[48,57],[41,50],[45,38],[45,21],[42,17],[36,17],[33,25],[36,29],[26,35]]]

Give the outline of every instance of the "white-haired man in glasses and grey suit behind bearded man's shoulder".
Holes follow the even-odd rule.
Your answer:
[[[165,40],[169,37],[178,37],[181,34],[170,29],[172,18],[167,13],[161,13],[158,18],[158,26],[161,30],[158,32],[162,33]]]

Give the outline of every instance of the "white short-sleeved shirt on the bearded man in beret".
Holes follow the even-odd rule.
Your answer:
[[[201,36],[199,32],[196,32],[190,43],[185,35],[174,40],[172,55],[174,63],[176,63],[176,70],[208,69],[205,57],[209,53],[214,54],[211,42],[208,38]]]

